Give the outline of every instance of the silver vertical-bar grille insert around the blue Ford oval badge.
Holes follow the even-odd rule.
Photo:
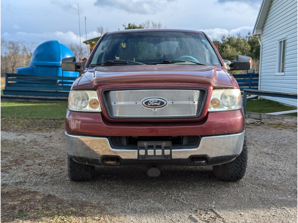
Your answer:
[[[112,117],[193,117],[200,110],[204,91],[192,89],[141,89],[105,92]],[[160,98],[167,102],[162,108],[148,108],[142,102]]]

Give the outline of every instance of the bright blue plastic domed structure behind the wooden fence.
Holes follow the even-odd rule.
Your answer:
[[[60,67],[61,59],[71,56],[74,54],[67,46],[57,40],[46,41],[35,49],[29,66],[17,68],[16,73],[77,77],[79,72],[61,70]]]

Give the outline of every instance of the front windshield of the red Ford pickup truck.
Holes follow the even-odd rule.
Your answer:
[[[127,61],[127,65],[220,65],[217,54],[204,34],[164,31],[107,34],[96,48],[90,65],[123,65],[124,61]]]

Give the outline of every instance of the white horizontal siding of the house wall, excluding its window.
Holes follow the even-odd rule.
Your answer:
[[[278,40],[286,38],[285,72],[276,75]],[[260,90],[297,94],[297,0],[273,0],[263,27]],[[297,106],[297,99],[272,98]]]

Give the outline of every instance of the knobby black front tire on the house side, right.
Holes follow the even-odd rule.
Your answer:
[[[224,181],[236,181],[241,180],[246,171],[247,165],[247,142],[246,136],[244,136],[243,149],[239,156],[233,161],[221,165],[213,166],[214,174]]]

